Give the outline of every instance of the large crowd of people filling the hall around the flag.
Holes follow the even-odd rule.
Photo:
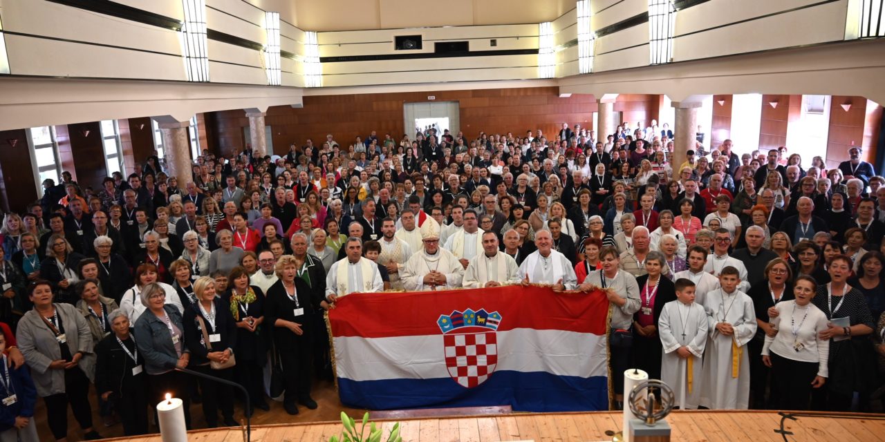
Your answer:
[[[204,152],[188,176],[152,156],[97,189],[47,179],[0,231],[0,434],[36,440],[40,397],[57,440],[68,406],[98,438],[91,385],[127,435],[165,392],[210,427],[268,396],[295,415],[333,376],[338,298],[519,284],[604,291],[616,393],[636,367],[681,408],[881,406],[885,179],[858,147],[830,168],[700,139],[671,164],[672,137],[373,131]]]

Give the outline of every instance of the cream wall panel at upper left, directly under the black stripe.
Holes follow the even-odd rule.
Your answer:
[[[181,54],[178,33],[171,29],[44,1],[5,0],[3,26],[24,34]]]

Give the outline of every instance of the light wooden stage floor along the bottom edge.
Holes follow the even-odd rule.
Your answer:
[[[849,441],[885,440],[885,415],[802,413],[797,420],[783,420],[770,411],[676,411],[667,417],[673,429],[672,440],[680,442],[735,440],[763,441]],[[399,422],[404,441],[603,441],[612,440],[610,431],[620,431],[620,413],[558,413],[483,415],[379,421],[387,438]],[[253,442],[319,442],[341,431],[341,423],[296,423],[261,425],[252,429]],[[192,431],[190,441],[242,441],[240,429]],[[119,438],[132,442],[160,442],[159,436]]]

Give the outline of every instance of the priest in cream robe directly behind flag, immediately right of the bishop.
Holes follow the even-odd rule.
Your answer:
[[[519,266],[511,255],[498,251],[497,234],[482,233],[481,255],[467,264],[464,288],[482,288],[519,284]]]

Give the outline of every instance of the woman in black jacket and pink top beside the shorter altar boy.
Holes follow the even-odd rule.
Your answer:
[[[633,360],[634,366],[645,370],[651,379],[658,379],[661,375],[662,346],[658,336],[658,318],[667,302],[676,301],[673,281],[662,274],[666,269],[666,256],[652,250],[645,257],[645,271],[648,273],[636,278],[640,307],[633,315]]]

